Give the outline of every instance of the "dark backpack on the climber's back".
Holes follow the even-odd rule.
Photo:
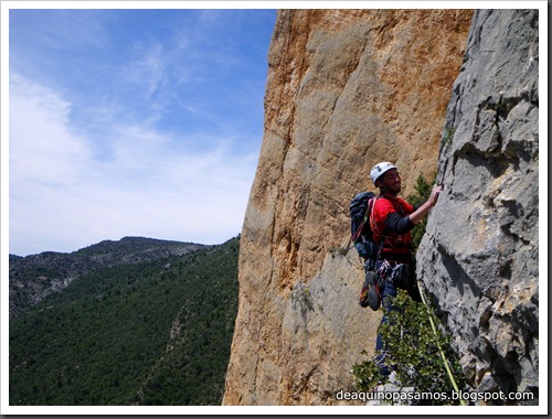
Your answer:
[[[373,192],[361,192],[357,194],[349,205],[351,215],[351,241],[359,256],[364,259],[367,270],[375,268],[378,259],[378,245],[373,240],[372,228],[370,228],[370,212],[375,202]]]

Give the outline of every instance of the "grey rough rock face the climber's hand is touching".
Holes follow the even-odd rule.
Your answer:
[[[480,390],[539,386],[538,13],[476,12],[443,132],[445,190],[418,251]]]

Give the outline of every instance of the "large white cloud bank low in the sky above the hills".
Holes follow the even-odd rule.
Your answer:
[[[216,244],[241,230],[257,157],[234,155],[234,139],[202,150],[147,127],[105,127],[108,159],[99,160],[62,95],[11,82],[10,253],[127,235]]]

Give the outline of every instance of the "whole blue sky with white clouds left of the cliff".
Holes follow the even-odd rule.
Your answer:
[[[10,254],[237,235],[275,20],[263,9],[11,9]]]

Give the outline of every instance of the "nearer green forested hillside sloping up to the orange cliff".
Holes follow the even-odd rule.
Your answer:
[[[10,405],[220,405],[238,246],[100,268],[10,319]]]

